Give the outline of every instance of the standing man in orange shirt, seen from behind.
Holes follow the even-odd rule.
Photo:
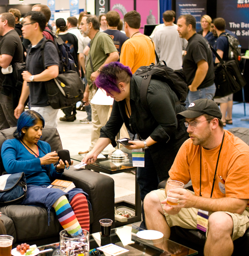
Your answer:
[[[155,48],[150,37],[139,32],[141,16],[137,11],[129,11],[124,16],[127,39],[121,48],[120,62],[131,68],[132,74],[140,66],[155,63]]]

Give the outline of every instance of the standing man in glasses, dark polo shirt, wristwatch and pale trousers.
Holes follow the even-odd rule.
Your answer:
[[[45,81],[54,79],[59,75],[60,60],[58,50],[52,42],[45,43],[44,59],[42,58],[41,46],[46,40],[46,37],[43,36],[45,26],[46,18],[42,12],[28,12],[23,19],[23,37],[29,39],[31,45],[29,45],[26,57],[27,71],[22,73],[24,80],[22,94],[14,115],[16,118],[20,117],[24,110],[24,103],[29,97],[30,109],[41,114],[46,125],[57,127],[58,110],[49,105]]]

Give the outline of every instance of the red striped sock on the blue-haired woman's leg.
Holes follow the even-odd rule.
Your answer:
[[[70,202],[73,208],[74,214],[76,215],[81,228],[89,231],[90,228],[90,216],[87,198],[84,194],[76,194]]]

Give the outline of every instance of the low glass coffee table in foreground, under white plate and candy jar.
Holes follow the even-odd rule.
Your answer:
[[[101,236],[101,233],[94,233],[90,235],[90,249],[97,247],[115,244],[126,250],[123,256],[190,256],[198,254],[198,251],[190,249],[186,246],[173,242],[171,240],[161,238],[157,240],[144,240],[137,236],[137,232],[142,230],[135,225],[126,225],[111,230],[111,235],[107,237]],[[41,253],[43,256],[60,255],[59,243],[39,246],[39,250],[51,249]],[[109,256],[100,251],[101,255]]]

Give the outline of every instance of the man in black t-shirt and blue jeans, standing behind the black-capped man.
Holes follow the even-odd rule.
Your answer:
[[[200,98],[212,100],[215,95],[214,64],[208,41],[196,33],[196,20],[192,15],[182,15],[177,20],[177,31],[188,40],[183,57],[183,71],[187,78],[188,96],[186,104]]]

